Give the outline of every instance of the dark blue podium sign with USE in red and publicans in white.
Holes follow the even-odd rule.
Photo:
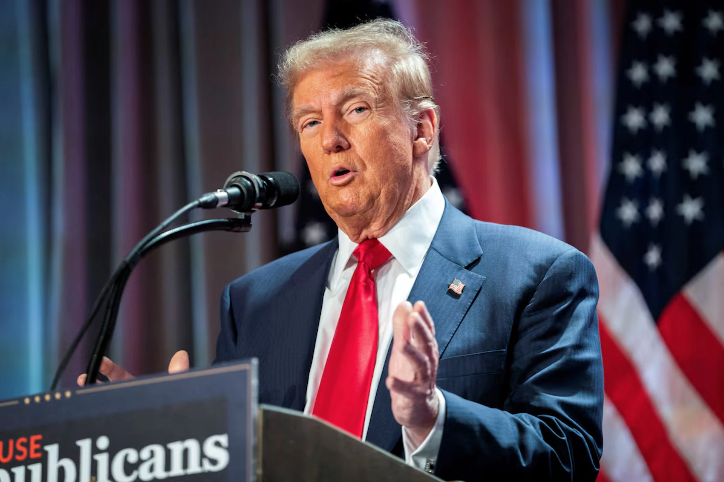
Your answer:
[[[256,359],[0,402],[0,482],[253,481]]]

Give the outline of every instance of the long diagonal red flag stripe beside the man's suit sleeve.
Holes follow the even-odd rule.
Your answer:
[[[600,312],[599,321],[606,394],[631,430],[654,481],[694,482],[686,462],[671,444],[639,373],[618,347]]]

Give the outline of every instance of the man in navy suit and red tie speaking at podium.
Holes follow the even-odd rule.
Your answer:
[[[280,77],[339,235],[227,286],[216,360],[257,357],[261,403],[333,420],[441,478],[594,481],[603,368],[588,258],[442,197],[439,108],[399,23],[298,43]]]

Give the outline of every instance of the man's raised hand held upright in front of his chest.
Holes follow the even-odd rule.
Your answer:
[[[420,444],[437,420],[435,391],[439,352],[435,325],[425,303],[400,303],[392,316],[393,340],[389,376],[392,414]]]

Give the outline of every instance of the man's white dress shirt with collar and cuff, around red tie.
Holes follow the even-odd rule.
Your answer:
[[[442,219],[442,211],[445,210],[445,198],[442,197],[437,180],[434,177],[431,179],[432,186],[423,197],[405,212],[402,219],[397,221],[397,224],[387,234],[379,238],[379,242],[390,251],[392,257],[390,261],[374,270],[379,314],[379,339],[362,440],[367,437],[377,386],[381,382],[384,384],[384,380],[381,381],[380,377],[387,358],[387,351],[392,342],[392,314],[395,313],[397,305],[408,299],[427,250],[432,243],[432,238],[437,231],[437,226]],[[342,303],[345,301],[350,279],[357,267],[357,258],[352,255],[357,244],[352,242],[341,229],[339,230],[339,240],[339,248],[332,260],[327,287],[324,289],[319,330],[309,371],[304,407],[304,413],[308,414],[312,413],[319,382],[324,373],[324,364],[327,363],[329,347],[332,345],[334,330],[337,329],[337,321],[342,312]],[[436,389],[436,391],[439,400],[439,415],[427,438],[416,447],[403,427],[405,462],[421,470],[425,470],[429,464],[434,465],[437,460],[437,452],[442,440],[442,428],[445,426],[445,397],[439,390]]]

